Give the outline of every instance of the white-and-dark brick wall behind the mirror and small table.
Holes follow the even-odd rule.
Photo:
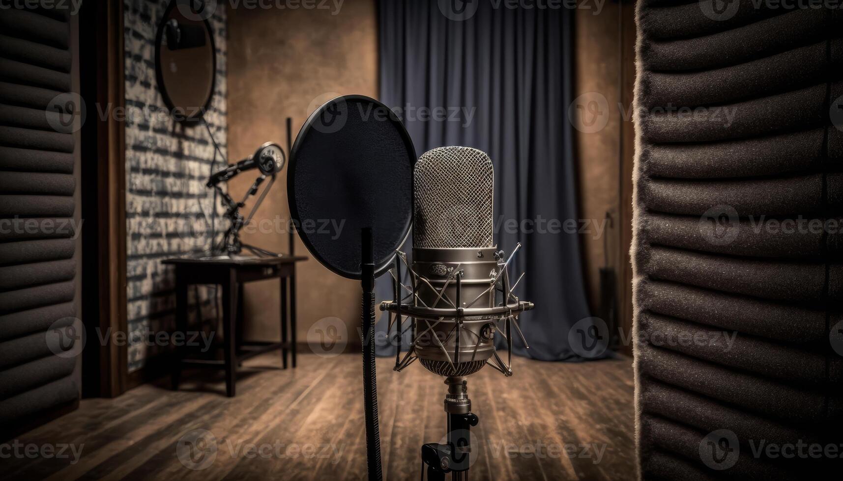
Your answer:
[[[148,342],[148,333],[174,327],[171,267],[162,259],[210,246],[207,219],[212,191],[205,187],[214,147],[205,126],[183,126],[166,110],[155,77],[155,34],[168,0],[126,0],[126,297],[129,371],[144,366],[166,346]],[[227,154],[226,13],[220,3],[208,19],[217,47],[217,79],[205,120]],[[217,155],[214,169],[226,160]],[[221,211],[217,206],[217,212]],[[207,214],[207,216],[204,216]],[[215,230],[225,222],[218,216]],[[213,329],[215,289],[191,289],[191,314],[198,298],[204,329]]]

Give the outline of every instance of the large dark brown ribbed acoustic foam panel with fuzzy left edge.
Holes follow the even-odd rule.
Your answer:
[[[637,3],[639,474],[839,475],[757,447],[843,448],[843,12],[723,5]]]

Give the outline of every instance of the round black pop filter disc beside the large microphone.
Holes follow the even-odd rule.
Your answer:
[[[361,229],[371,227],[375,275],[389,268],[412,220],[416,150],[393,112],[362,95],[315,110],[287,167],[290,215],[310,254],[361,279]]]

